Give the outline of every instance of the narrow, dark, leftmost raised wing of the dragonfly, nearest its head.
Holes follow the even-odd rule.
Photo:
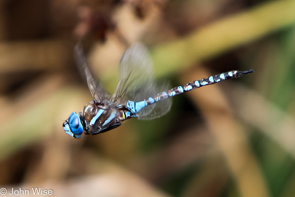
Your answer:
[[[97,102],[104,103],[106,100],[110,99],[110,95],[107,91],[101,87],[97,80],[93,78],[93,74],[88,68],[81,42],[78,42],[74,48],[75,52],[75,61],[77,67],[80,71],[81,76],[87,81],[88,87],[92,96]]]

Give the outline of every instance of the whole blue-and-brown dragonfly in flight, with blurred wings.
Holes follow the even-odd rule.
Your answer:
[[[157,85],[148,50],[143,44],[136,43],[120,59],[119,82],[110,96],[93,77],[80,42],[74,52],[80,74],[87,81],[94,100],[85,105],[79,114],[72,112],[63,123],[64,131],[73,138],[80,138],[83,132],[92,135],[107,132],[130,118],[159,118],[169,112],[172,105],[172,99],[169,98],[172,96],[255,71],[232,70],[169,89],[168,83]]]

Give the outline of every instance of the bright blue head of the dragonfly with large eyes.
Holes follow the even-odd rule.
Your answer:
[[[83,125],[80,116],[74,111],[65,123],[62,124],[66,134],[73,138],[80,138],[83,133]]]

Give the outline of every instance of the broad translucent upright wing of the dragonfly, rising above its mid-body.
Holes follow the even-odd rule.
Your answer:
[[[140,43],[133,44],[122,55],[119,75],[111,99],[114,102],[139,101],[154,92],[152,60],[147,49]]]

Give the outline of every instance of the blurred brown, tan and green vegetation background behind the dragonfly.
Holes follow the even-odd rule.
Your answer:
[[[295,1],[2,0],[0,10],[6,195],[295,196]],[[93,99],[74,62],[79,37],[111,93],[135,42],[171,88],[257,71],[175,96],[159,119],[72,139],[62,120]]]

